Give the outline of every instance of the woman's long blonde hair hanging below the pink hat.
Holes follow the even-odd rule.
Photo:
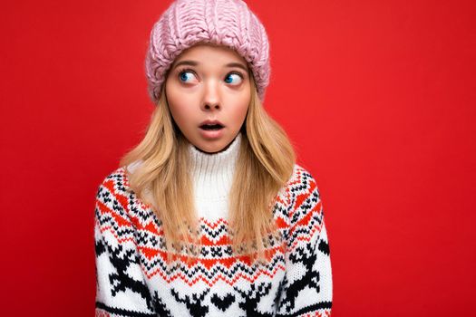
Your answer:
[[[251,100],[228,198],[229,233],[236,255],[264,262],[266,248],[274,245],[271,240],[281,238],[272,208],[280,188],[292,176],[296,154],[285,130],[263,108],[252,73],[249,78]],[[161,221],[168,262],[170,254],[183,250],[190,257],[199,254],[188,144],[171,117],[164,82],[145,137],[120,164],[142,161],[132,173],[126,168],[127,177],[131,190]]]

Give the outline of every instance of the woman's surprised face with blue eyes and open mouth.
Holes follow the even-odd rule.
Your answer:
[[[170,67],[165,93],[173,120],[204,152],[226,149],[247,116],[251,99],[247,62],[224,46],[198,44]],[[219,121],[221,128],[203,127]]]

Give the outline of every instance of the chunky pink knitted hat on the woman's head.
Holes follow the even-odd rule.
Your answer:
[[[269,43],[265,27],[241,0],[176,0],[151,31],[145,73],[157,104],[165,73],[177,56],[196,43],[228,46],[247,62],[264,101],[269,83]]]

